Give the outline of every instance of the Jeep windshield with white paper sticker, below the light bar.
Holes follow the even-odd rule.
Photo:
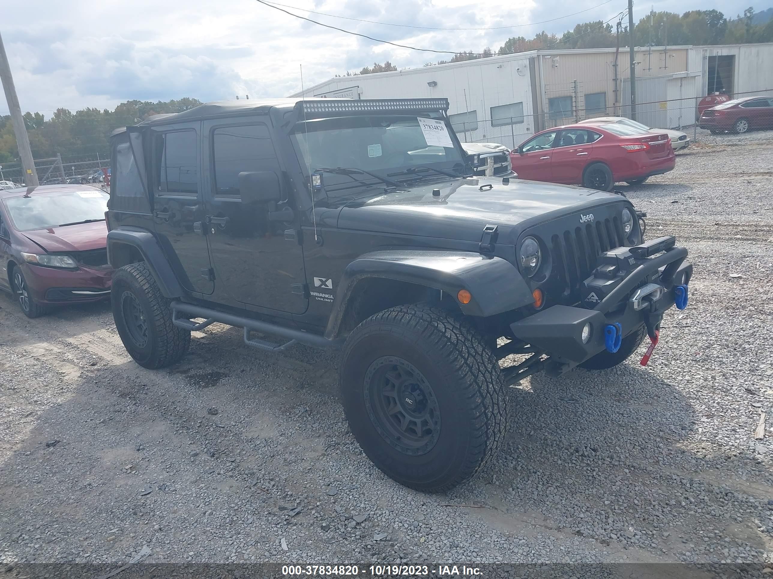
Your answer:
[[[407,176],[441,176],[427,168],[460,176],[464,170],[462,152],[438,113],[427,113],[427,117],[368,115],[308,120],[296,124],[291,140],[307,174],[309,167],[312,174],[331,168],[362,171],[349,175],[324,171],[322,183],[328,195],[346,195],[346,191],[363,185],[384,185],[380,178],[400,181]]]

